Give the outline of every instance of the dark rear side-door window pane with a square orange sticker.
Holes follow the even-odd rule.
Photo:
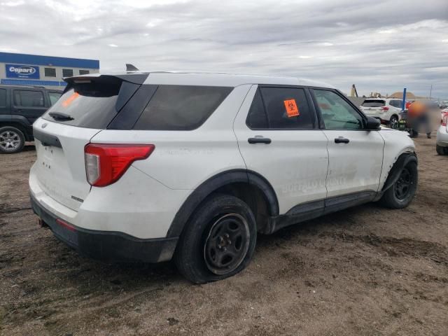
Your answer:
[[[315,127],[316,116],[310,109],[304,89],[261,87],[260,92],[269,129],[311,130]]]

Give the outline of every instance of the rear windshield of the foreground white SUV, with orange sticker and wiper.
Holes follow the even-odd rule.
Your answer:
[[[121,81],[80,83],[68,88],[44,114],[46,120],[66,125],[104,129],[116,116]],[[59,113],[69,118],[53,118]]]

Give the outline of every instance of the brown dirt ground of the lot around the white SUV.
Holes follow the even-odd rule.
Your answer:
[[[80,257],[30,209],[34,147],[1,155],[0,335],[448,335],[448,156],[434,138],[416,139],[407,209],[261,236],[248,269],[201,286],[171,263]]]

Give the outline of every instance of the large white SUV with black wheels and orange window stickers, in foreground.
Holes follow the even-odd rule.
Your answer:
[[[334,87],[274,76],[151,72],[66,78],[34,123],[41,224],[80,253],[174,258],[232,276],[258,233],[365,202],[406,207],[414,143]]]

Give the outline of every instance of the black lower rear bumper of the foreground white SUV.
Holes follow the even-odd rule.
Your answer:
[[[140,239],[123,232],[89,230],[71,223],[61,225],[57,222],[57,216],[39,204],[32,195],[31,207],[57,239],[90,258],[121,262],[162,262],[170,260],[176,248],[177,237]]]

